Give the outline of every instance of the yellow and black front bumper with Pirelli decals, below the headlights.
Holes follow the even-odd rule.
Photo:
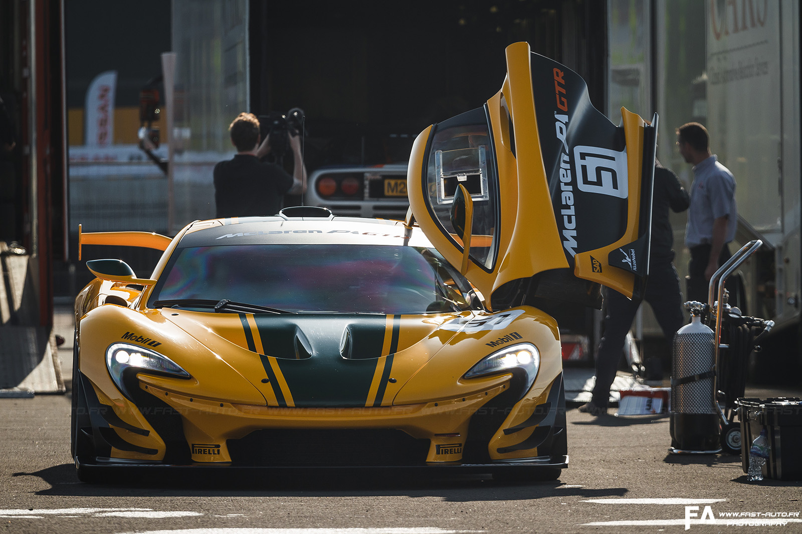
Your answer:
[[[431,473],[567,467],[562,375],[519,396],[509,383],[427,404],[272,408],[141,384],[136,405],[83,377],[94,442],[82,466],[403,468]],[[120,400],[123,405],[120,406]]]

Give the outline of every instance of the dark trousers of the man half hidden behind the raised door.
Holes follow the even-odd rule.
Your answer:
[[[670,261],[654,261],[649,266],[644,300],[652,307],[666,343],[669,347],[674,334],[683,327],[683,295],[679,290],[679,277]],[[627,299],[618,291],[606,290],[604,337],[596,353],[596,383],[593,386],[593,404],[606,408],[610,400],[618,361],[621,359],[626,333],[638,311],[640,301]]]

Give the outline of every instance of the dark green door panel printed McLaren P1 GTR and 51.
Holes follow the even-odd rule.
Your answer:
[[[532,86],[541,154],[565,257],[614,243],[626,231],[623,128],[590,103],[585,80],[532,54]]]

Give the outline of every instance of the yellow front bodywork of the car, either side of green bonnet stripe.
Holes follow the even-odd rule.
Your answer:
[[[109,295],[124,299],[128,306],[106,303]],[[269,344],[257,338],[256,352],[265,356],[278,381],[264,382],[265,367],[257,354],[249,350],[246,339],[247,335],[258,333],[253,315],[245,314],[248,334],[237,314],[151,310],[140,303],[139,297],[139,291],[95,280],[84,288],[76,303],[80,371],[90,381],[100,404],[115,413],[109,419],[113,431],[124,443],[137,448],[112,448],[113,459],[158,461],[164,458],[166,450],[164,440],[148,423],[148,418],[132,399],[119,391],[106,368],[103,354],[107,347],[131,332],[136,333],[128,339],[132,344],[148,347],[148,343],[157,343],[160,354],[192,375],[191,379],[176,379],[140,372],[137,378],[140,391],[180,414],[184,436],[192,448],[192,461],[197,463],[230,462],[227,440],[265,428],[396,428],[412,437],[431,440],[427,462],[459,462],[471,417],[510,387],[512,375],[461,377],[482,355],[494,350],[487,343],[503,346],[504,335],[537,339],[541,365],[533,387],[509,409],[504,423],[488,443],[488,454],[492,460],[538,456],[537,448],[499,452],[524,441],[537,427],[509,434],[504,429],[527,420],[538,405],[545,404],[553,387],[561,387],[557,324],[534,308],[517,310],[521,315],[504,331],[472,333],[447,332],[439,327],[460,317],[480,320],[493,315],[475,312],[409,315],[401,319],[411,322],[411,327],[407,324],[403,328],[391,359],[390,375],[395,383],[387,384],[378,402],[379,377],[388,364],[389,354],[372,360],[375,374],[363,407],[298,408],[293,406],[292,388],[282,379],[286,360],[270,356]],[[392,320],[393,316],[387,316],[383,353],[390,350]],[[457,344],[459,350],[454,348]],[[435,356],[447,350],[448,357]],[[286,406],[279,406],[276,388]],[[114,420],[124,424],[115,426]]]

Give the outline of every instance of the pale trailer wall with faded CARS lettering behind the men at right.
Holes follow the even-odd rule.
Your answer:
[[[610,119],[621,106],[642,117],[656,111],[658,159],[687,188],[693,172],[674,132],[685,122],[707,126],[711,151],[738,183],[740,215],[776,247],[776,282],[766,261],[762,272],[751,260],[742,268],[747,312],[778,323],[799,321],[799,11],[793,0],[608,2]],[[687,216],[671,214],[671,222],[684,291]],[[642,335],[660,334],[650,307],[641,326]]]

